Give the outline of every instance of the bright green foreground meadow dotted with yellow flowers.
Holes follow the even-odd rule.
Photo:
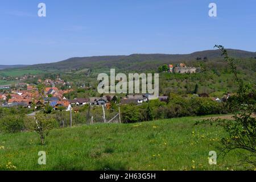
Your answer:
[[[220,128],[195,126],[196,117],[131,124],[95,124],[51,131],[46,146],[36,133],[0,135],[0,169],[7,170],[236,170],[231,152],[209,165],[209,151],[224,135]],[[38,152],[46,151],[46,165]],[[6,166],[7,165],[7,166]],[[16,168],[15,168],[16,167]]]

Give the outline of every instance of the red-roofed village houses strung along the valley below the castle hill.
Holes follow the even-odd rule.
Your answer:
[[[73,89],[60,90],[55,86],[44,88],[43,96],[40,96],[38,88],[36,86],[27,85],[27,89],[24,90],[11,90],[10,92],[0,93],[0,100],[2,101],[2,107],[15,107],[22,106],[30,109],[39,109],[44,105],[52,106],[53,110],[58,110],[59,107],[65,108],[69,111],[72,107],[79,107],[86,104],[93,106],[105,106],[108,107],[110,101],[114,101],[116,96],[102,96],[102,97],[88,97],[88,98],[75,98],[68,100],[64,94],[72,92]],[[160,101],[167,101],[167,96],[160,96]],[[142,104],[148,100],[151,100],[150,94],[134,94],[127,95],[121,98],[120,104]]]

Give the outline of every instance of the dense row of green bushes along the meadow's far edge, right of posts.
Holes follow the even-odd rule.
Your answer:
[[[159,100],[137,105],[123,105],[122,121],[125,123],[151,121],[154,119],[176,118],[194,115],[225,114],[229,112],[224,102],[210,98],[184,98],[170,94],[167,102]]]

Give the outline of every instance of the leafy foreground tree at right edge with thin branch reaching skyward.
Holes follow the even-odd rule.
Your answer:
[[[234,59],[228,56],[223,46],[215,46],[222,52],[222,56],[228,62],[229,68],[234,75],[234,81],[238,86],[237,94],[228,99],[227,107],[232,110],[234,120],[208,119],[203,123],[216,124],[221,126],[227,137],[221,140],[221,154],[228,154],[230,151],[238,151],[242,164],[256,166],[256,94],[255,86],[245,84],[237,75],[237,67]]]

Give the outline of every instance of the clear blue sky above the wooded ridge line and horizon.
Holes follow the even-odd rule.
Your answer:
[[[46,3],[47,16],[38,16]],[[209,3],[217,17],[208,16]],[[255,0],[2,0],[0,64],[50,63],[69,57],[256,51]]]

